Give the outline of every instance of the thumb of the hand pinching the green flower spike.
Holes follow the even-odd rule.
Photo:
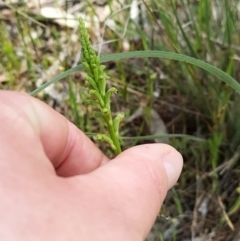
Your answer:
[[[143,240],[159,213],[168,189],[177,181],[182,165],[181,155],[169,145],[137,146],[89,175],[79,177],[81,184],[85,183],[89,190],[99,191],[95,194],[97,197],[94,197],[93,191],[89,196],[87,191],[81,191],[78,199],[81,199],[83,209],[91,205],[92,220],[99,218],[101,225],[114,223],[113,226],[128,228],[133,236],[139,235]],[[77,186],[76,179],[72,182]],[[127,240],[140,240],[139,237]]]

